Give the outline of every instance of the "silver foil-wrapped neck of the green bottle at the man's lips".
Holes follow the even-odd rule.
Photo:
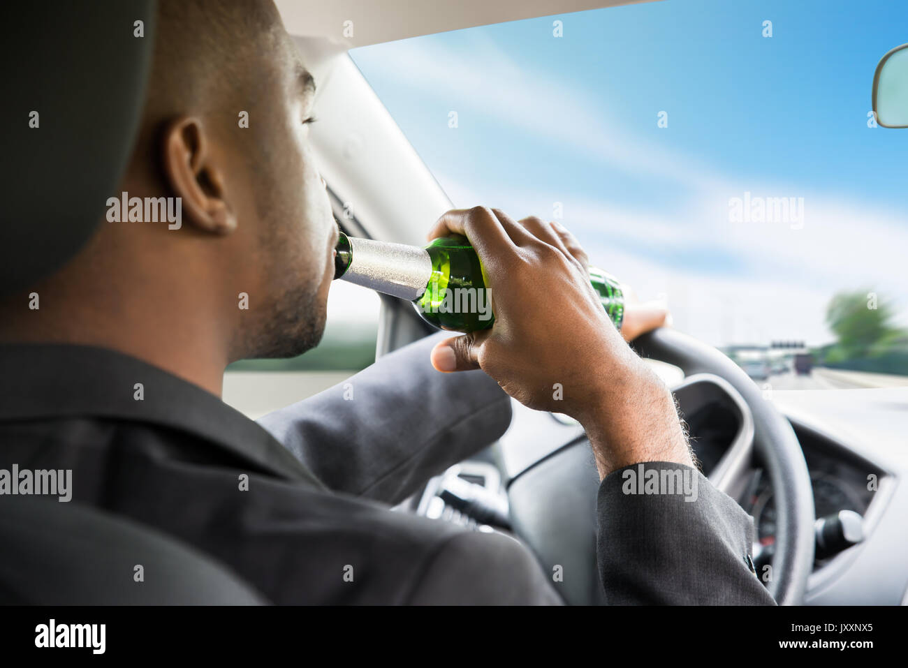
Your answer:
[[[335,279],[401,300],[418,300],[432,277],[429,251],[418,246],[359,239],[341,233],[337,251]]]

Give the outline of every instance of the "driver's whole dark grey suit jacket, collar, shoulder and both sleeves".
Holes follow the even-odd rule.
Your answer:
[[[389,510],[508,427],[498,384],[437,373],[432,343],[261,426],[111,350],[5,346],[0,467],[72,469],[74,500],[196,546],[275,603],[558,604],[514,538]],[[730,498],[705,478],[695,503],[627,496],[620,475],[598,493],[610,602],[772,603],[745,563],[752,520]]]

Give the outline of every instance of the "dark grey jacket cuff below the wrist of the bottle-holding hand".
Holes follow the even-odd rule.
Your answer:
[[[680,472],[692,485],[646,493],[641,470]],[[647,462],[613,471],[599,486],[597,521],[609,604],[775,604],[753,571],[753,518],[694,468]]]

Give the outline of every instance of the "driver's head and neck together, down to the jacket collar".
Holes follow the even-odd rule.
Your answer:
[[[33,287],[41,311],[0,334],[171,367],[187,348],[224,364],[299,354],[321,339],[336,239],[310,148],[311,74],[271,0],[158,5],[140,132],[110,194],[180,198],[182,225],[102,221]]]

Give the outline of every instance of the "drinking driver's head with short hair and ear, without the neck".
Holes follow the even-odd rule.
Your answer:
[[[335,241],[311,74],[271,0],[163,0],[157,32],[133,167],[182,197],[188,229],[165,237],[211,246],[197,261],[237,310],[232,358],[300,354],[321,339]]]

